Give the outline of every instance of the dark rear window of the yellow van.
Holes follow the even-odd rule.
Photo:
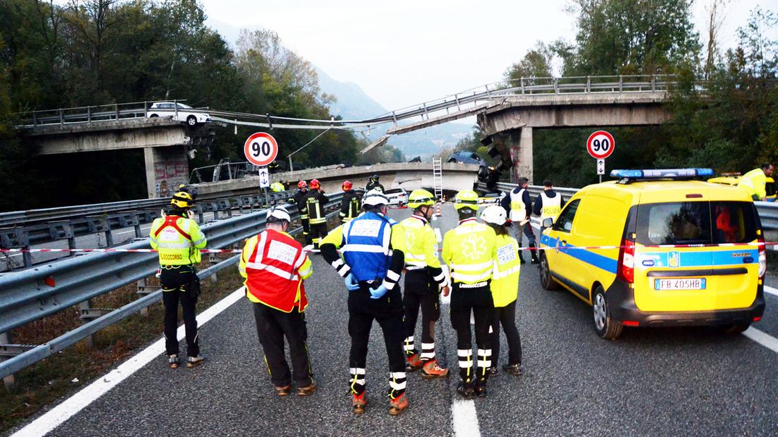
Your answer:
[[[636,241],[640,244],[748,243],[756,239],[750,202],[697,201],[638,207]]]

